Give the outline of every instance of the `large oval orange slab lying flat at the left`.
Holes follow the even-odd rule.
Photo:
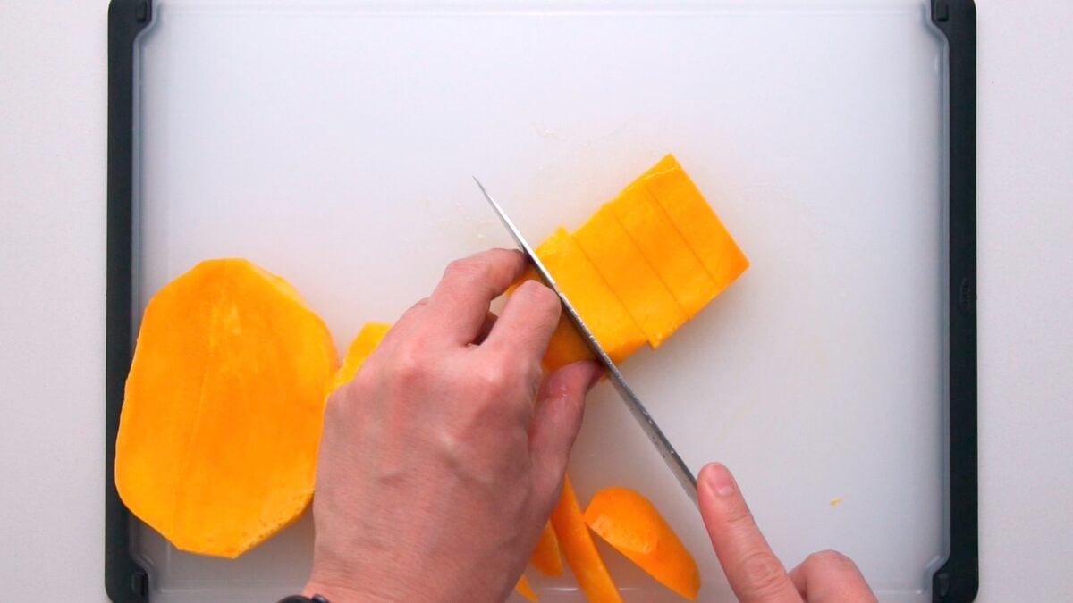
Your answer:
[[[236,557],[313,492],[324,323],[285,281],[210,260],[149,300],[116,437],[116,488],[182,550]],[[251,420],[255,417],[255,420]]]

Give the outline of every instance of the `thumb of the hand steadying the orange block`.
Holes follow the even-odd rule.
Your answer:
[[[585,395],[600,373],[600,365],[594,362],[571,363],[548,374],[536,394],[536,410],[529,426],[529,456],[533,491],[548,512],[558,498],[570,448],[582,427]]]

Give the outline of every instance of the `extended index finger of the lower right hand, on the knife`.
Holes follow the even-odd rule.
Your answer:
[[[697,497],[711,546],[738,600],[800,603],[800,594],[760,533],[731,472],[717,462],[705,466],[697,476]]]

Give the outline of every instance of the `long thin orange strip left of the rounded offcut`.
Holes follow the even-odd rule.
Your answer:
[[[552,511],[552,526],[559,538],[559,546],[567,558],[567,564],[577,578],[577,585],[590,603],[621,603],[618,588],[607,573],[592,535],[585,525],[577,496],[570,484],[570,476],[563,476],[562,494]]]

